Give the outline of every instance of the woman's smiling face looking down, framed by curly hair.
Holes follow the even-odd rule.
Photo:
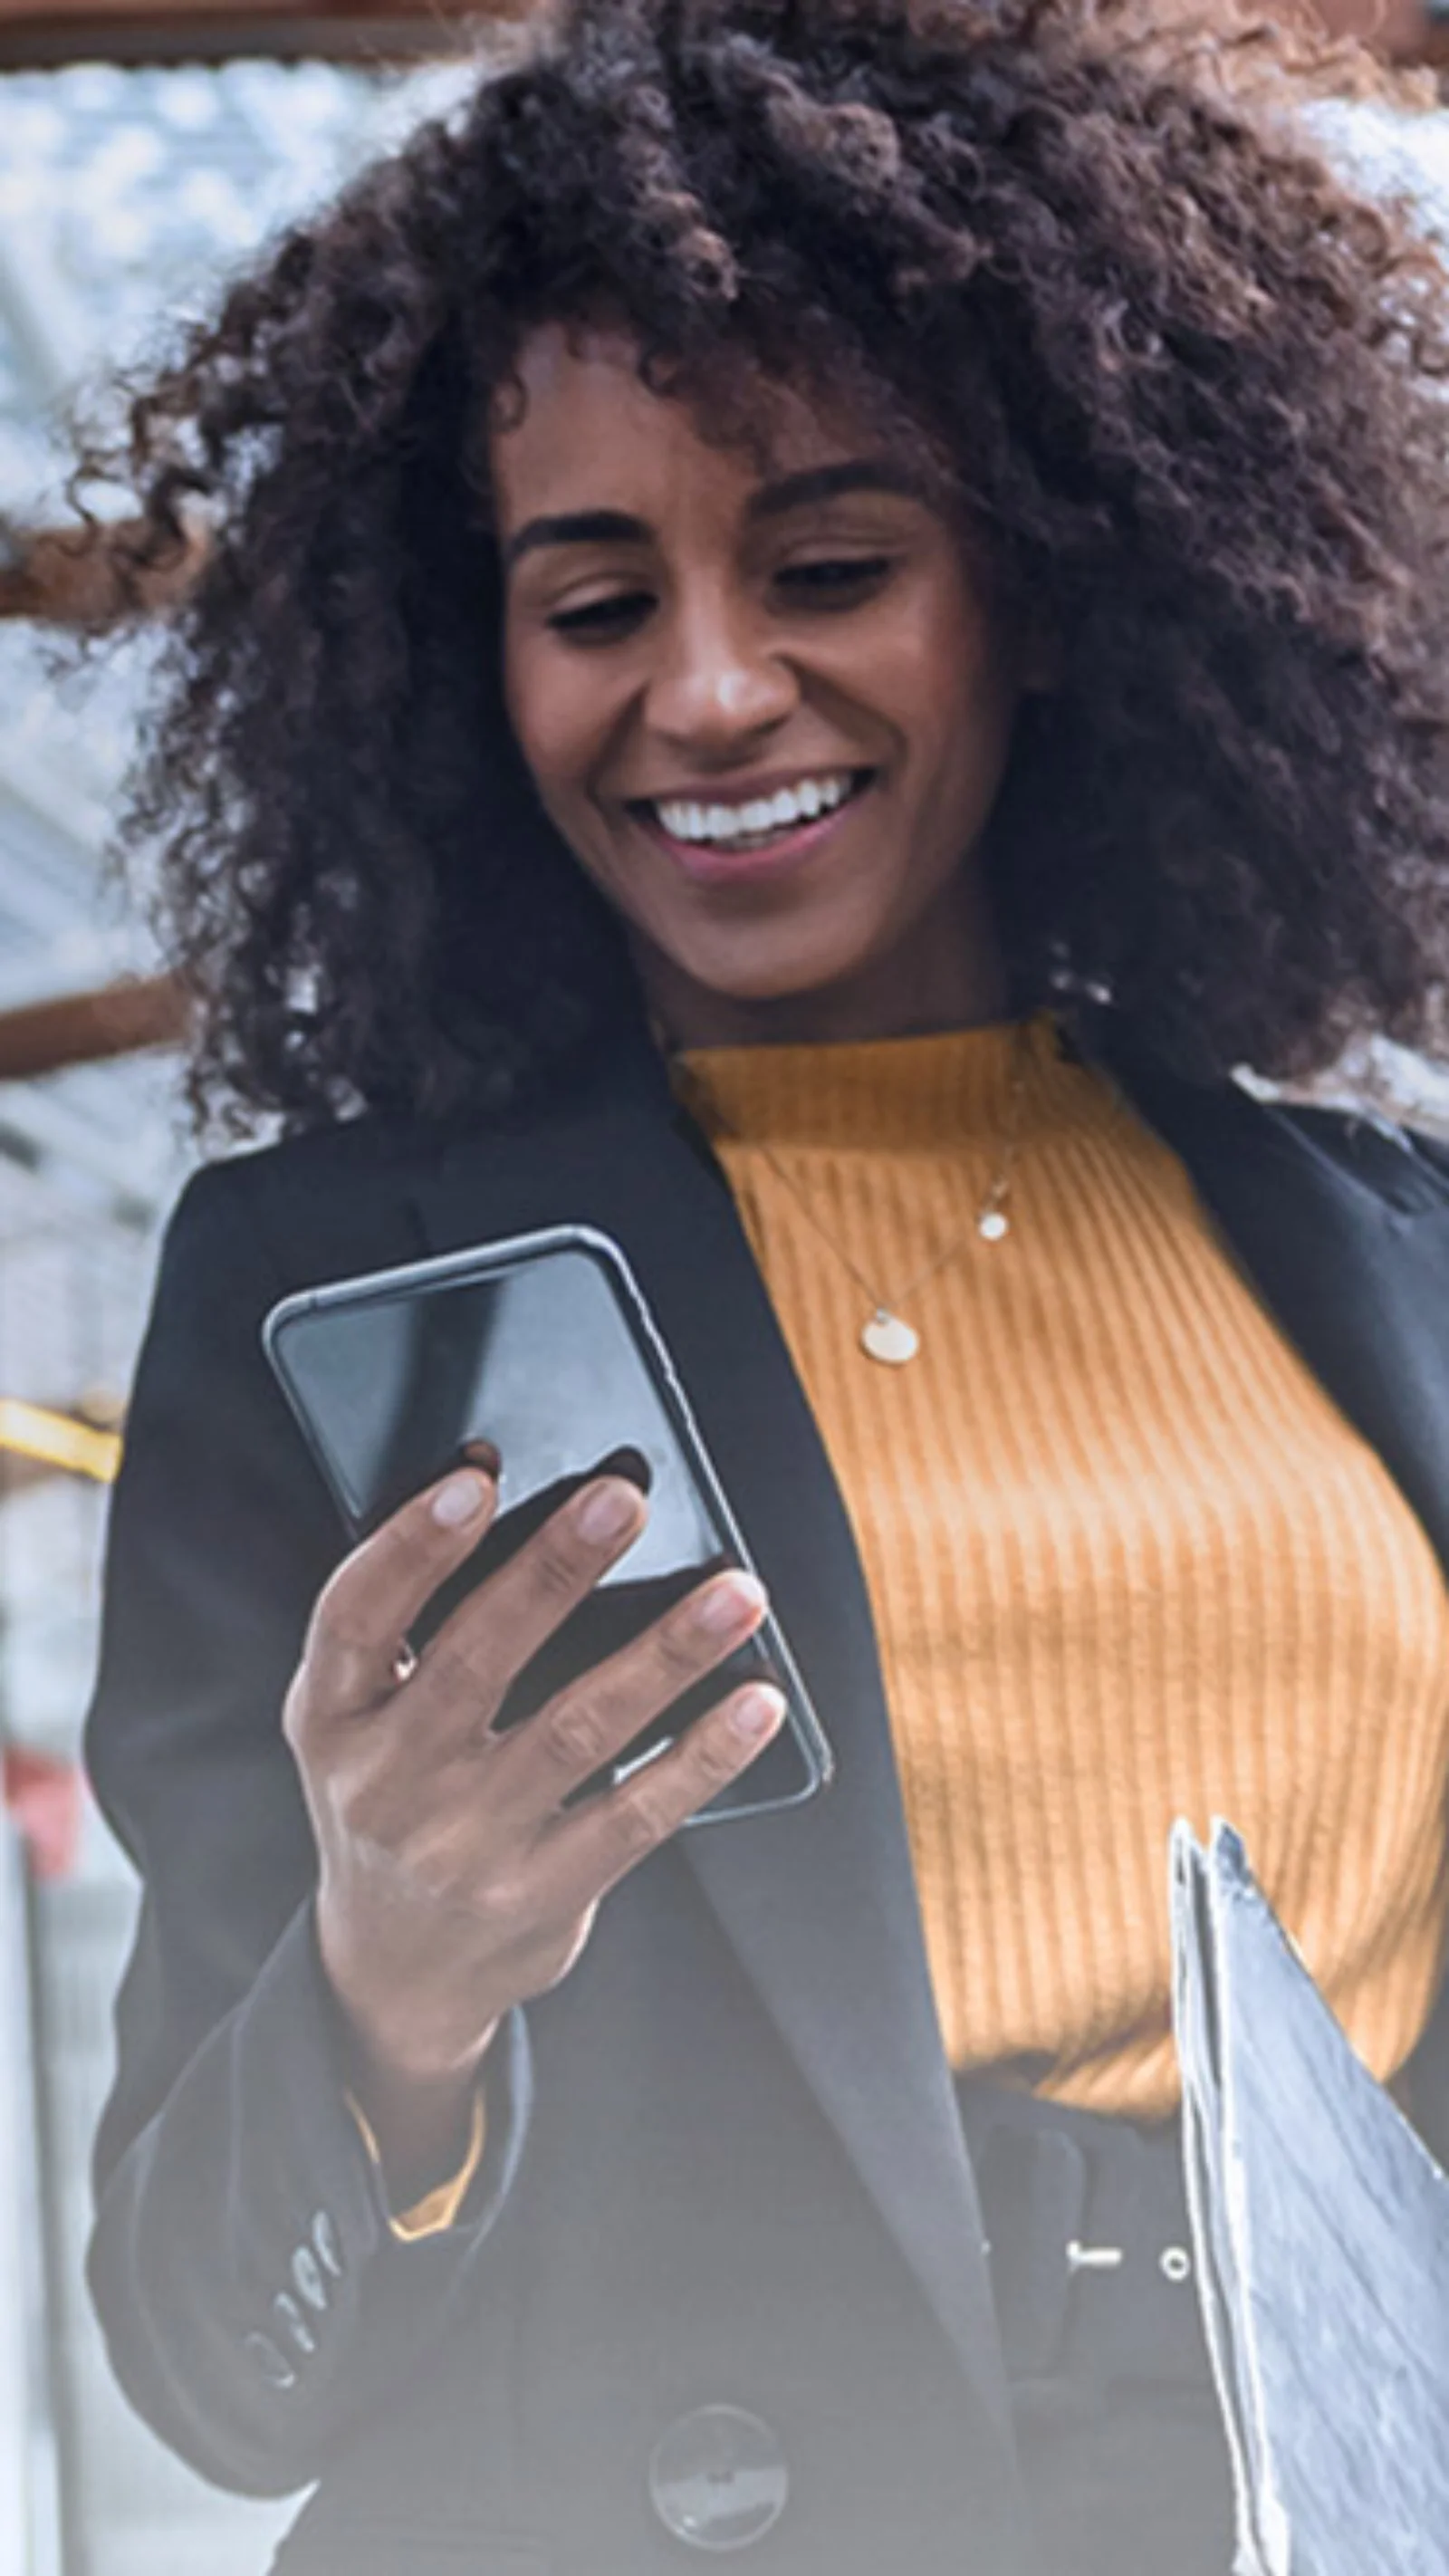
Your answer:
[[[538,330],[520,379],[492,435],[510,716],[674,1036],[991,1018],[973,853],[1019,675],[960,528],[780,386],[762,469],[623,335]]]

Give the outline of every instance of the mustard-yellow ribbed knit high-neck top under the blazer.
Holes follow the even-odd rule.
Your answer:
[[[1449,1914],[1449,1595],[1181,1162],[1050,1020],[679,1082],[854,1522],[952,2063],[1168,2115],[1168,1826],[1220,1814],[1390,2079]],[[911,1365],[806,1208],[885,1303],[965,1226]]]

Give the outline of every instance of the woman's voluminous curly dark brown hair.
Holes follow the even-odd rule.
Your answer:
[[[144,554],[211,528],[131,811],[198,1108],[497,1100],[636,1007],[507,729],[481,435],[522,335],[600,312],[669,386],[744,350],[875,402],[1050,626],[988,835],[1024,1005],[1202,1069],[1423,1043],[1449,325],[1310,70],[1089,0],[566,0],[232,286],[124,451]]]

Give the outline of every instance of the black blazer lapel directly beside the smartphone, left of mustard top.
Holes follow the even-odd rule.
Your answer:
[[[414,1190],[435,1249],[592,1224],[628,1255],[836,1752],[806,1808],[685,1855],[1006,2437],[983,2226],[921,1942],[865,1582],[723,1175],[649,1059]]]

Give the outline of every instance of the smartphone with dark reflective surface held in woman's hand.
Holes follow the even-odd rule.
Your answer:
[[[263,1342],[353,1538],[471,1445],[497,1450],[494,1522],[435,1595],[414,1646],[589,1476],[623,1473],[649,1494],[633,1548],[517,1674],[499,1726],[533,1716],[708,1574],[754,1571],[628,1260],[592,1226],[548,1226],[306,1288],[268,1314]],[[813,1798],[831,1777],[831,1747],[775,1615],[589,1790],[628,1777],[726,1690],[757,1677],[782,1690],[785,1723],[690,1824]]]

